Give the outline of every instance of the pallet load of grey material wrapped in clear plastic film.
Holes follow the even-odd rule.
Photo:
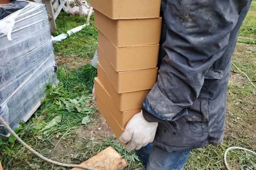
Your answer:
[[[45,85],[57,83],[49,18],[43,4],[0,20],[0,116],[12,129],[40,106]],[[0,136],[9,137],[2,124]]]

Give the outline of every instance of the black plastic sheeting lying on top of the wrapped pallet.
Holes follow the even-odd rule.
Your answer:
[[[29,2],[11,0],[11,3],[0,4],[0,20],[17,10],[23,9],[28,3]]]

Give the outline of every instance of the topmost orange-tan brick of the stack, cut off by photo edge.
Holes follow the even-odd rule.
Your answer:
[[[157,18],[161,0],[91,0],[90,5],[111,19]]]

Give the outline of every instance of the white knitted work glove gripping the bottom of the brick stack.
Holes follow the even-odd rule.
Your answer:
[[[154,140],[158,123],[148,122],[143,117],[142,111],[134,115],[125,127],[119,138],[122,143],[127,143],[125,150],[139,150]]]

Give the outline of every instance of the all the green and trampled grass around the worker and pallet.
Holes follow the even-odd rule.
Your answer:
[[[58,28],[56,35],[83,25],[86,18],[61,12],[56,20]],[[92,58],[98,43],[97,29],[94,27],[93,19],[92,16],[90,26],[55,44],[55,54],[61,53],[61,56],[66,58],[78,56],[84,60]],[[239,36],[255,39],[255,24],[256,0],[253,0]],[[255,83],[256,46],[253,45],[255,43],[241,39],[239,42],[250,44],[237,45],[233,63]],[[228,85],[224,143],[192,150],[185,165],[186,170],[224,170],[223,154],[228,147],[256,148],[256,137],[253,135],[256,133],[256,90],[236,68],[233,67],[232,72],[242,80],[240,84],[233,82]],[[96,69],[90,64],[75,69],[59,65],[58,86],[46,86],[46,95],[41,102],[41,107],[29,121],[21,122],[20,127],[15,131],[23,141],[39,153],[56,161],[79,164],[106,147],[112,146],[128,161],[129,166],[125,170],[142,167],[143,164],[135,153],[126,152],[114,136],[107,136],[101,140],[90,137],[88,134],[81,137],[81,131],[85,130],[93,134],[93,128],[98,128],[96,125],[102,124],[97,115],[98,110],[91,101],[93,78],[96,75]],[[87,116],[90,122],[82,124],[83,118]],[[45,129],[54,118],[61,118],[61,120]],[[6,170],[68,170],[68,168],[53,166],[42,161],[13,138],[9,141],[0,139],[0,160]],[[234,150],[228,154],[228,161],[236,170],[256,170],[256,158],[246,152]]]

